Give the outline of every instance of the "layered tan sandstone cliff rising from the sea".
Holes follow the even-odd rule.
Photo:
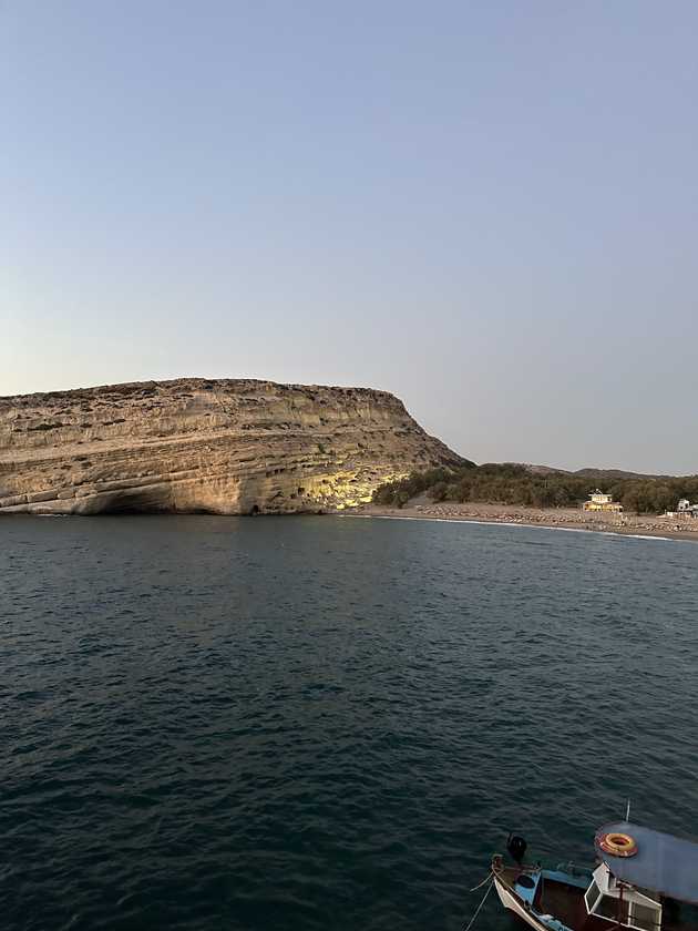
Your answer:
[[[365,388],[178,379],[0,398],[0,514],[333,510],[461,461]]]

